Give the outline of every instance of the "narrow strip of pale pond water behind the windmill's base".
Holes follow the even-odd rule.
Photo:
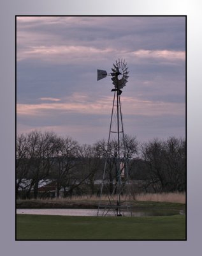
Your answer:
[[[100,210],[101,211],[101,210]],[[17,214],[42,214],[42,215],[61,215],[61,216],[97,216],[97,209],[17,209]],[[184,211],[169,209],[143,209],[132,212],[132,216],[168,216],[184,214]],[[109,214],[114,216],[113,212]],[[130,212],[125,212],[126,216],[130,216]]]

